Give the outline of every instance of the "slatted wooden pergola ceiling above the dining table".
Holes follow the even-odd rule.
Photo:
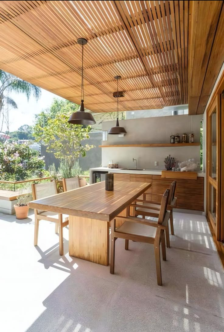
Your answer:
[[[120,111],[186,104],[191,2],[0,1],[0,68],[79,104],[84,37],[87,109],[116,110],[118,74]]]

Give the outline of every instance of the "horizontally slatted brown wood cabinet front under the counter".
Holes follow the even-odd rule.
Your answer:
[[[145,192],[146,200],[160,203],[161,194],[169,188],[174,179],[161,178],[161,175],[114,173],[114,180],[151,182]],[[176,179],[176,208],[204,211],[204,178],[196,180]],[[142,196],[140,197],[142,199]]]

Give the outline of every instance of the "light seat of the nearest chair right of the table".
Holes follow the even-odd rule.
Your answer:
[[[116,228],[116,232],[155,237],[156,229],[157,228],[153,226],[147,226],[132,221],[125,221],[120,227]]]

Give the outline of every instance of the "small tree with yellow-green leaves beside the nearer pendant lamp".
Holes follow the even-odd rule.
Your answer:
[[[33,136],[36,141],[47,145],[47,151],[66,165],[69,177],[76,160],[85,157],[86,151],[93,145],[82,145],[81,141],[89,138],[91,126],[69,124],[70,115],[78,109],[78,105],[67,100],[54,100],[50,109],[36,117]]]

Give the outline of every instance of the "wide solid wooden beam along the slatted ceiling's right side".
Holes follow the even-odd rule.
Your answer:
[[[222,1],[190,1],[189,115],[197,114],[222,4]]]

